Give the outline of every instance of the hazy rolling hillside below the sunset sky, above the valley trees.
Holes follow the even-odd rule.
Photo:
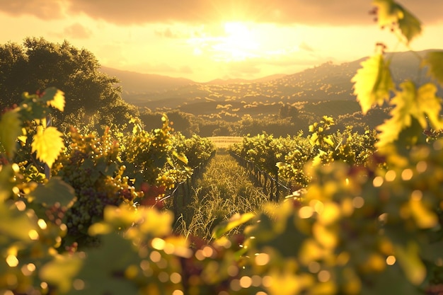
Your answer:
[[[387,53],[394,79],[426,81],[426,69],[416,69],[422,52]],[[185,112],[205,120],[236,122],[244,116],[256,119],[276,116],[282,105],[297,106],[321,117],[349,116],[359,111],[352,94],[352,76],[366,58],[343,64],[331,62],[291,75],[275,75],[254,81],[215,80],[196,83],[158,75],[137,74],[103,68],[117,76],[123,99],[152,112]],[[442,96],[443,91],[439,90]]]

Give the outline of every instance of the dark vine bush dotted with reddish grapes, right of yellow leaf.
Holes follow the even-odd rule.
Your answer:
[[[106,206],[118,206],[139,197],[120,163],[119,146],[108,132],[102,137],[71,129],[71,145],[54,165],[55,173],[75,190],[76,200],[64,215],[65,244],[91,246],[98,241],[88,228],[103,220]]]

